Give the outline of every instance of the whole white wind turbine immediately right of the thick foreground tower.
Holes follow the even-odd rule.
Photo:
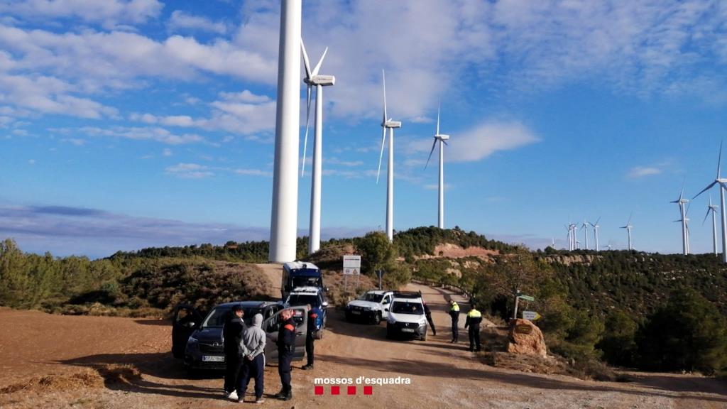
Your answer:
[[[328,47],[323,52],[321,60],[310,71],[308,53],[305,52],[305,45],[300,40],[300,50],[305,65],[305,78],[303,82],[308,86],[308,109],[305,115],[305,140],[303,142],[303,160],[300,167],[300,176],[303,176],[305,169],[305,149],[308,147],[308,122],[310,119],[310,89],[316,87],[316,122],[314,124],[315,134],[313,138],[313,175],[310,180],[310,231],[308,234],[308,254],[313,254],[321,248],[321,172],[323,167],[323,87],[329,87],[336,83],[336,77],[332,75],[318,75],[321,64],[326,57]]]

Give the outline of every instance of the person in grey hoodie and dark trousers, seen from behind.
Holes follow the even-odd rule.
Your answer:
[[[262,330],[262,315],[252,317],[252,326],[243,334],[241,349],[246,351],[240,375],[237,380],[238,402],[243,402],[250,378],[255,378],[255,403],[262,403],[263,374],[265,372],[265,331]]]

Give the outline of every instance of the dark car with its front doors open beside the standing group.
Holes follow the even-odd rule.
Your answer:
[[[182,304],[174,309],[172,321],[172,354],[184,360],[190,369],[225,369],[225,352],[222,346],[222,325],[229,316],[232,306],[239,304],[245,312],[243,320],[252,324],[255,314],[262,314],[262,329],[267,334],[265,360],[278,361],[276,340],[280,327],[279,314],[284,308],[280,302],[242,301],[223,303],[209,311],[204,318],[192,306]],[[296,346],[294,360],[302,360],[305,355],[305,332],[307,315],[305,307],[294,308],[296,322]]]

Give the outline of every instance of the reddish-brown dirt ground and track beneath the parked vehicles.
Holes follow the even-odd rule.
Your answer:
[[[266,408],[727,408],[720,381],[671,374],[640,375],[630,384],[540,376],[483,365],[466,343],[449,344],[446,290],[422,290],[433,310],[438,335],[426,342],[390,341],[385,325],[344,322],[329,311],[329,331],[316,343],[316,369],[294,369],[294,400],[268,398]],[[454,295],[457,297],[457,295]],[[0,394],[0,408],[230,408],[222,380],[214,374],[190,378],[169,354],[167,322],[111,317],[63,317],[33,311],[0,310],[0,386],[33,375],[68,374],[98,365],[128,362],[142,373],[131,384],[100,388]],[[465,339],[461,333],[460,339]],[[295,366],[300,367],[300,362]],[[373,385],[364,395],[342,386],[339,395],[315,378],[404,378],[410,384]],[[279,389],[276,367],[265,371],[265,394]],[[250,388],[252,390],[252,386]],[[250,397],[248,396],[248,399]]]

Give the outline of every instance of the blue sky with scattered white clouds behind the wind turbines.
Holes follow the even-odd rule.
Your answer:
[[[0,0],[0,237],[93,258],[268,239],[279,9]],[[385,68],[396,230],[436,223],[441,99],[446,226],[564,247],[564,224],[601,217],[601,245],[623,248],[632,213],[638,250],[680,252],[669,201],[711,182],[726,136],[724,2],[307,0],[302,27],[337,77],[324,239],[385,225]],[[301,235],[309,203],[307,171]],[[712,247],[706,211],[706,195],[689,210],[694,253]]]

